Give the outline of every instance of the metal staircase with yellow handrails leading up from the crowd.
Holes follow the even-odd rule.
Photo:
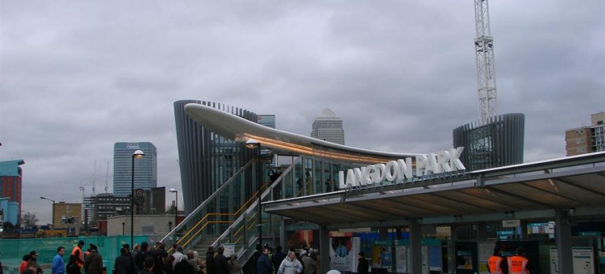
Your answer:
[[[296,193],[293,191],[292,171],[300,160],[294,159],[294,163],[275,182],[265,182],[265,179],[259,182],[259,177],[265,178],[265,163],[251,160],[187,215],[162,241],[170,247],[169,251],[176,243],[185,250],[194,249],[200,254],[206,252],[210,242],[213,247],[230,244],[234,246],[239,261],[244,264],[256,250],[259,239],[259,183],[262,201]],[[261,171],[258,164],[263,165]],[[263,239],[276,242],[283,223],[282,217],[261,213],[261,219]]]

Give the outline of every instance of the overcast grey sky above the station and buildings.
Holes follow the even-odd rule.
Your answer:
[[[275,114],[305,135],[329,107],[346,145],[414,153],[451,147],[479,115],[472,0],[0,8],[0,160],[25,160],[22,208],[39,223],[40,196],[78,203],[93,180],[104,192],[106,162],[112,191],[115,142],[153,142],[158,186],[180,190],[180,99]],[[565,129],[605,110],[603,14],[603,0],[490,0],[498,110],[525,114],[525,162],[564,156]]]

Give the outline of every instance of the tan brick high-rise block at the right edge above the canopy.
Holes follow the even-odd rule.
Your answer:
[[[591,125],[565,131],[567,156],[605,151],[605,112],[591,115]]]

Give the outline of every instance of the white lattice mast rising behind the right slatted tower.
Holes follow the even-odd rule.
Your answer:
[[[475,57],[477,59],[477,86],[479,88],[479,123],[489,123],[496,110],[496,71],[494,65],[494,38],[490,34],[490,13],[487,0],[475,0]]]

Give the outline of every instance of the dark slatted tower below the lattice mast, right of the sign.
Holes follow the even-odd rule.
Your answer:
[[[460,161],[466,170],[521,164],[525,115],[492,116],[487,123],[468,123],[453,129],[453,147],[464,147]]]

